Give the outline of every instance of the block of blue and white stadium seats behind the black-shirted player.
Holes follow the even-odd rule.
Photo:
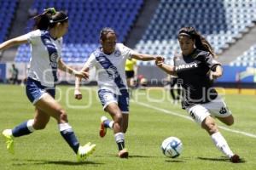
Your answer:
[[[136,49],[172,59],[178,51],[177,31],[194,26],[217,54],[255,26],[256,0],[160,0],[154,17]],[[154,62],[140,62],[153,65]]]

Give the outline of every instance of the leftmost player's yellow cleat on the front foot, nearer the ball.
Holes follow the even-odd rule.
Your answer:
[[[84,161],[88,156],[90,156],[96,149],[96,144],[91,144],[88,142],[84,146],[79,146],[77,153],[78,161]]]

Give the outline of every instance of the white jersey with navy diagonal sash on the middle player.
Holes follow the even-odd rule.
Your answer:
[[[99,89],[107,89],[114,94],[121,94],[120,88],[127,89],[125,61],[135,52],[122,43],[117,43],[113,54],[104,54],[101,47],[90,54],[85,66],[96,67]]]

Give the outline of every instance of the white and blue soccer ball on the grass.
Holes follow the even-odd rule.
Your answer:
[[[169,137],[163,141],[161,149],[165,156],[175,158],[181,154],[183,143],[176,137]]]

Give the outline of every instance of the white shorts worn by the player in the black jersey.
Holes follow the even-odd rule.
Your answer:
[[[224,100],[219,96],[209,103],[192,105],[188,107],[186,111],[188,111],[194,121],[200,125],[207,116],[227,117],[232,114]]]

